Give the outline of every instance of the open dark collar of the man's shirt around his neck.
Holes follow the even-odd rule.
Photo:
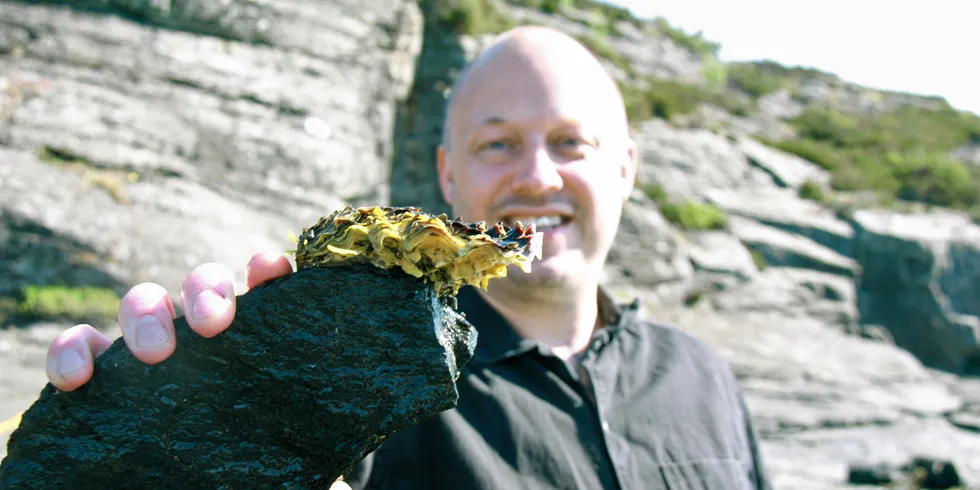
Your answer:
[[[473,359],[493,364],[540,348],[537,341],[521,337],[510,323],[480,296],[473,286],[465,286],[456,296],[458,310],[477,330]],[[603,328],[618,329],[633,322],[639,302],[617,304],[612,295],[600,286],[597,294],[599,318]]]

